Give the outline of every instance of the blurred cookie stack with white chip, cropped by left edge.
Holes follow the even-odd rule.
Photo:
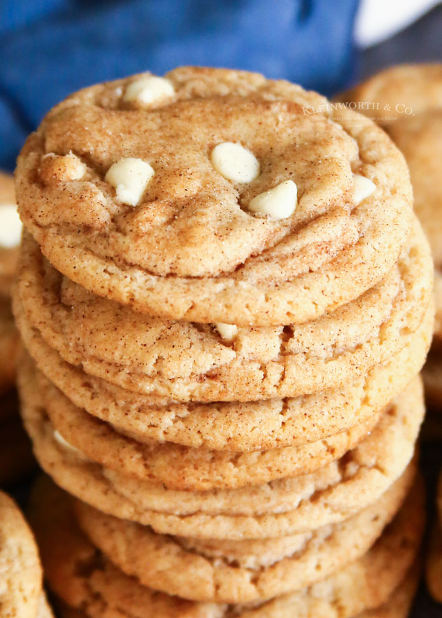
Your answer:
[[[14,179],[0,172],[0,486],[18,481],[34,466],[14,389],[19,334],[12,317],[11,285],[20,238]]]

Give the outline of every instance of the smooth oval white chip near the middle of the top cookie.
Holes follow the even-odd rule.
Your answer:
[[[250,183],[259,174],[259,161],[255,155],[232,141],[224,141],[212,150],[212,165],[225,179],[234,183]]]

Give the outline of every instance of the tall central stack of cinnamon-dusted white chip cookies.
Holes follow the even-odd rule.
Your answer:
[[[67,492],[41,481],[32,507],[61,615],[406,615],[432,262],[384,132],[182,68],[58,105],[16,187],[23,418]]]

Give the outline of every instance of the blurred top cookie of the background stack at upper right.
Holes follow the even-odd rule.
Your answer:
[[[339,99],[384,126],[442,108],[442,64],[396,65],[376,73]]]

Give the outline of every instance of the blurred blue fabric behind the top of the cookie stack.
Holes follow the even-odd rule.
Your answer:
[[[0,0],[0,168],[67,94],[197,64],[330,93],[351,79],[357,0]]]

